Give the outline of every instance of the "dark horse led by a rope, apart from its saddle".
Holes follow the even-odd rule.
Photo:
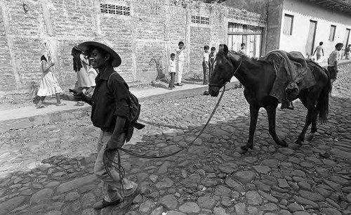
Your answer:
[[[301,145],[304,141],[305,133],[311,123],[309,140],[312,140],[314,132],[317,131],[317,116],[323,123],[326,121],[329,111],[329,93],[331,91],[329,72],[312,62],[307,61],[307,64],[313,68],[312,73],[316,84],[308,89],[301,90],[298,94],[298,98],[307,107],[305,126],[303,126],[303,131],[295,141],[298,145]],[[269,131],[275,143],[288,146],[286,141],[280,139],[275,131],[275,114],[279,101],[277,98],[270,96],[276,78],[273,65],[266,60],[254,60],[234,52],[228,52],[228,47],[224,45],[213,63],[213,73],[208,90],[211,96],[218,96],[220,88],[227,84],[233,75],[244,86],[244,96],[250,105],[249,140],[246,145],[241,146],[241,150],[246,152],[249,148],[253,148],[253,134],[255,133],[260,107],[264,107],[267,111]]]

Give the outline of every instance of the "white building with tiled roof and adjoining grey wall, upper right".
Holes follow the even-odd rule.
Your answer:
[[[269,0],[267,49],[300,51],[315,58],[314,50],[323,42],[326,62],[337,43],[350,43],[351,4],[339,0]],[[343,54],[343,53],[342,53]]]

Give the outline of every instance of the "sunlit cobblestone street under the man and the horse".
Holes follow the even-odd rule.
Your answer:
[[[128,211],[92,208],[102,197],[93,174],[98,129],[89,117],[1,134],[0,214],[351,214],[351,70],[343,65],[333,86],[329,121],[300,148],[293,142],[307,110],[277,109],[277,132],[289,148],[274,144],[261,109],[255,145],[243,89],[226,91],[210,124],[188,150],[164,159],[122,153],[123,167],[140,184]],[[166,155],[189,144],[218,98],[194,96],[144,102],[140,122],[125,145],[140,154]]]

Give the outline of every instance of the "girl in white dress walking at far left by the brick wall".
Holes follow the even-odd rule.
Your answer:
[[[61,103],[60,93],[62,93],[62,89],[58,84],[58,80],[55,75],[51,71],[51,68],[55,63],[51,60],[51,55],[49,53],[45,53],[40,58],[40,69],[41,69],[41,79],[40,86],[37,93],[37,96],[40,96],[40,100],[37,103],[37,108],[46,107],[43,105],[44,99],[46,96],[56,95],[56,105],[62,106],[66,105],[65,103]]]

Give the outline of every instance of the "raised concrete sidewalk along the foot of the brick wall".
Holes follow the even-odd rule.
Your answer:
[[[140,102],[145,100],[175,100],[177,98],[186,98],[195,95],[202,95],[207,85],[199,83],[185,82],[183,86],[176,86],[176,89],[170,90],[166,87],[152,87],[150,89],[133,89],[131,92],[139,98]],[[235,77],[226,85],[226,89],[234,89],[239,86],[239,82]],[[76,106],[74,100],[63,100],[67,105],[56,106],[49,103],[45,108],[37,108],[34,104],[27,107],[12,108],[8,110],[0,110],[0,133],[4,133],[11,129],[25,129],[32,126],[49,124],[67,119],[75,119],[90,114],[91,106],[84,104]]]

